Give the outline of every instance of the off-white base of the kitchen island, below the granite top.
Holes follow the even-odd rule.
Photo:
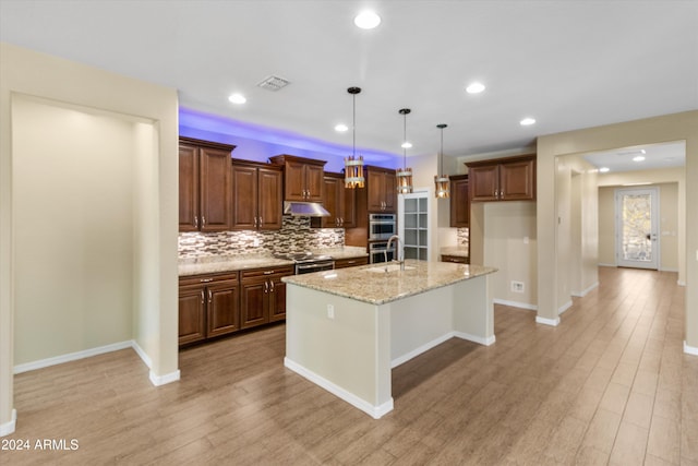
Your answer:
[[[488,282],[380,304],[288,282],[285,366],[378,419],[393,410],[392,368],[452,337],[494,343]]]

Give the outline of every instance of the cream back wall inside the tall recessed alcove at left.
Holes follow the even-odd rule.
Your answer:
[[[14,363],[130,340],[133,123],[24,96],[12,121]]]

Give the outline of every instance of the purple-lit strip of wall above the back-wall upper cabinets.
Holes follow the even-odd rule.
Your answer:
[[[182,107],[179,109],[179,133],[188,138],[234,144],[234,158],[267,162],[274,155],[290,154],[327,160],[325,171],[341,171],[344,157],[352,152],[349,145],[333,144],[290,131]],[[357,154],[363,155],[366,165],[378,167],[395,168],[399,162],[398,154],[387,152],[357,148]]]

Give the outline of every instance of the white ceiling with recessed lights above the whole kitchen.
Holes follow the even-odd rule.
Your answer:
[[[352,24],[365,7],[376,29]],[[357,145],[393,154],[404,107],[408,155],[436,153],[444,122],[446,156],[698,108],[698,1],[0,0],[0,39],[335,145],[351,145],[334,127],[360,86]],[[291,84],[256,87],[272,74]],[[472,81],[485,92],[466,94]]]

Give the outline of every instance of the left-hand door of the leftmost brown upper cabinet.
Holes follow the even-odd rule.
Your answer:
[[[198,151],[179,146],[179,230],[198,230]]]

